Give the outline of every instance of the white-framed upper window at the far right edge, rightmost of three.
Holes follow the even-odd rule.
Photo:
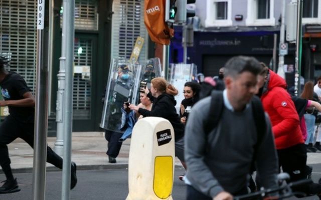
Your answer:
[[[321,23],[320,0],[303,0],[302,23]]]

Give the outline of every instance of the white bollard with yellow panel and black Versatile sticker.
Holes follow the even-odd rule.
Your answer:
[[[175,137],[169,120],[145,117],[134,125],[126,200],[172,200]]]

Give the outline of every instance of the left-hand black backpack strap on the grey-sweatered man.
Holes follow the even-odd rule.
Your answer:
[[[211,105],[208,115],[208,120],[205,123],[204,131],[205,134],[209,134],[218,124],[222,110],[224,108],[223,103],[223,92],[213,90],[211,92]]]

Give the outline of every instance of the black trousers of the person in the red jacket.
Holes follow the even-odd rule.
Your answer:
[[[283,172],[290,175],[290,181],[306,179],[309,173],[309,167],[306,165],[306,146],[304,143],[296,144],[284,149],[277,150],[279,158],[279,166]],[[321,185],[311,183],[308,185],[299,185],[293,188],[295,191],[304,192],[306,194],[317,194],[321,192]]]

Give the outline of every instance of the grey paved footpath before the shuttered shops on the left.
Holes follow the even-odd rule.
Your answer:
[[[47,142],[54,149],[56,137],[48,137]],[[106,155],[107,140],[104,132],[73,132],[71,160],[76,162],[77,170],[127,168],[130,138],[126,139],[121,146],[116,163],[109,163]],[[32,172],[34,150],[21,138],[14,140],[8,145],[11,167],[14,173]],[[321,153],[320,153],[321,162]],[[175,165],[182,167],[176,158]],[[54,165],[47,163],[47,171],[60,170]],[[0,170],[2,173],[2,170]]]

